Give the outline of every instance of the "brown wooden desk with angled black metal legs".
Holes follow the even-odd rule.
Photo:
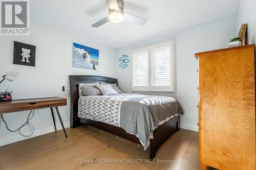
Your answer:
[[[50,108],[51,112],[52,112],[54,128],[55,128],[55,131],[57,131],[54,114],[53,114],[53,107],[55,107],[61,127],[65,133],[65,136],[68,137],[67,133],[65,131],[65,128],[63,126],[60,114],[59,114],[58,106],[67,106],[67,99],[64,99],[64,98],[40,98],[40,99],[12,100],[9,102],[0,102],[0,114]]]

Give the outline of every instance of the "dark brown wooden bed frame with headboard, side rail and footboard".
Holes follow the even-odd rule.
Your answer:
[[[109,132],[121,138],[133,141],[135,143],[141,144],[139,139],[132,134],[126,133],[122,128],[109,125],[102,122],[97,122],[90,119],[79,118],[78,113],[78,85],[79,83],[95,83],[95,82],[105,82],[105,83],[116,83],[118,85],[117,79],[101,77],[101,76],[70,76],[70,93],[71,93],[71,105],[70,105],[70,127],[76,128],[81,124],[87,124],[97,129],[105,132]],[[160,125],[157,129],[153,131],[154,139],[150,139],[150,159],[156,156],[157,150],[161,145],[176,131],[180,130],[180,116],[175,116]],[[148,149],[147,149],[148,150]]]

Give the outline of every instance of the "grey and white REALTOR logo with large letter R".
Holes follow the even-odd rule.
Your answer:
[[[29,0],[1,0],[0,35],[29,35]]]

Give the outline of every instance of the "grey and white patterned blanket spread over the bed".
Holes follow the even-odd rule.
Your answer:
[[[78,117],[121,127],[136,135],[144,150],[159,122],[177,114],[183,114],[180,104],[166,96],[121,93],[80,96],[78,101]]]

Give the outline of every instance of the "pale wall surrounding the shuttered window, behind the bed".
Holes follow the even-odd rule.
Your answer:
[[[178,99],[185,113],[181,118],[181,127],[198,130],[198,63],[194,54],[202,51],[228,47],[228,41],[236,36],[236,16],[229,16],[191,27],[176,33],[153,38],[147,41],[125,46],[117,50],[117,60],[123,55],[131,57],[131,50],[142,46],[176,39],[176,93],[136,92],[173,96]],[[131,64],[126,69],[118,68],[119,86],[125,92],[131,92]]]

